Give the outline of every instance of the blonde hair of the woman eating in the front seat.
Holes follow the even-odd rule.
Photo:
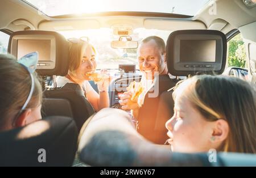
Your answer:
[[[69,43],[69,71],[72,74],[75,74],[75,71],[79,68],[87,46],[91,46],[93,52],[96,54],[94,46],[86,41],[80,40],[79,43]]]

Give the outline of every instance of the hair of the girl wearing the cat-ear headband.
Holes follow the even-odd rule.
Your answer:
[[[35,88],[27,108],[36,108],[42,103],[42,87],[34,75]],[[28,71],[10,54],[0,54],[0,130],[5,128],[11,116],[18,114],[27,100],[31,88]]]

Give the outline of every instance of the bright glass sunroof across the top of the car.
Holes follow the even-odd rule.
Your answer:
[[[48,16],[110,11],[162,12],[194,16],[209,0],[22,0]]]

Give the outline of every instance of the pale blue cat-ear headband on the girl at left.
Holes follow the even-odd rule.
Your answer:
[[[25,101],[22,108],[18,112],[18,115],[16,115],[15,119],[13,120],[13,124],[15,124],[14,121],[16,120],[16,118],[19,117],[19,115],[22,113],[22,111],[24,109],[26,109],[27,104],[31,100],[32,94],[34,92],[35,81],[34,81],[34,77],[33,77],[32,73],[34,73],[34,71],[36,70],[36,66],[37,66],[37,63],[38,63],[38,52],[32,52],[32,53],[26,54],[25,56],[23,56],[22,58],[20,58],[18,60],[18,63],[20,63],[30,74],[31,88],[30,88],[30,93],[27,96],[27,100]]]

